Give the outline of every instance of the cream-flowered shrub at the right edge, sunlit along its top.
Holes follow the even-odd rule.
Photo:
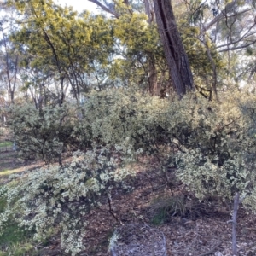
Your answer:
[[[241,91],[224,93],[218,102],[189,96],[180,102],[188,109],[180,113],[180,131],[189,132],[179,137],[177,177],[201,200],[230,201],[240,192],[244,206],[256,211],[255,100]]]

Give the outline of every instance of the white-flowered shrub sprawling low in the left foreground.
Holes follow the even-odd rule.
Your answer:
[[[100,206],[112,189],[131,189],[125,177],[133,174],[118,168],[113,158],[107,160],[99,152],[88,151],[74,154],[66,166],[11,177],[15,185],[10,183],[0,190],[0,196],[7,199],[0,214],[0,228],[15,216],[20,226],[35,230],[37,239],[52,228],[61,230],[61,246],[67,253],[77,255],[84,249],[85,215],[92,207]]]

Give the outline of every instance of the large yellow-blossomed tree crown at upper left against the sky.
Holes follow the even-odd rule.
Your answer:
[[[25,67],[24,90],[40,91],[41,97],[43,91],[44,97],[57,95],[62,103],[67,83],[77,102],[81,91],[103,86],[101,80],[107,77],[113,53],[109,20],[88,12],[78,15],[51,0],[9,2],[24,13],[20,29],[12,35],[16,48],[24,55],[20,63]],[[49,79],[51,84],[55,81],[56,91],[50,88]]]

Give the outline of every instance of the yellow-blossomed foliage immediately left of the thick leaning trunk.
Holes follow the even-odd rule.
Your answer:
[[[150,63],[154,62],[155,73],[164,69],[166,64],[156,25],[149,25],[145,14],[124,13],[113,20],[113,36],[117,47],[122,50],[117,50],[113,60],[111,78],[120,86],[137,88],[139,84],[141,89],[148,90]]]

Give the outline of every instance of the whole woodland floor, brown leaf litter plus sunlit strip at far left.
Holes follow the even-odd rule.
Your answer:
[[[143,160],[132,166],[137,171],[131,181],[135,189],[130,194],[113,193],[113,213],[123,224],[148,224],[161,230],[166,236],[168,256],[231,256],[232,225],[227,221],[231,218],[232,206],[219,206],[216,201],[196,201],[183,184],[173,182],[173,170],[165,176],[154,161],[149,162],[145,165]],[[24,162],[14,152],[3,152],[0,154],[0,184],[8,182],[10,173],[39,166],[44,163]],[[173,191],[167,186],[170,181]],[[110,214],[108,203],[103,203],[101,210],[91,211],[86,221],[88,232],[84,245],[87,249],[80,255],[110,255],[109,239],[119,223]],[[237,217],[237,247],[238,255],[256,255],[256,216],[247,214],[242,207]],[[67,255],[61,251],[58,237],[52,237],[47,245],[35,245],[35,250],[40,252],[37,255]]]

